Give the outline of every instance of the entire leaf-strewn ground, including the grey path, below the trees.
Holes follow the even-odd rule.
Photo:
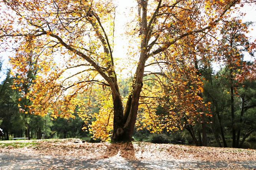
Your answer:
[[[80,139],[0,141],[0,169],[256,169],[256,150]]]

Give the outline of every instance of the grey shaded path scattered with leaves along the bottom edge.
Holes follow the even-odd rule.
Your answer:
[[[243,162],[183,162],[183,161],[149,161],[126,160],[122,157],[106,159],[85,159],[83,157],[56,157],[51,155],[33,155],[17,153],[0,153],[1,170],[172,170],[172,169],[256,169],[256,161]]]

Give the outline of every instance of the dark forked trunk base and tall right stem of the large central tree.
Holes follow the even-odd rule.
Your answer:
[[[128,97],[126,110],[123,110],[121,95],[114,94],[112,92],[114,101],[114,129],[111,140],[114,142],[118,141],[132,141],[132,133],[134,131],[134,126],[137,118],[137,112],[139,107],[140,92],[143,86],[143,76],[145,62],[147,60],[147,0],[143,1],[139,5],[142,10],[142,16],[140,21],[142,41],[140,44],[140,58],[138,66],[134,75],[135,81],[133,82],[132,91]],[[116,91],[119,92],[118,86]]]

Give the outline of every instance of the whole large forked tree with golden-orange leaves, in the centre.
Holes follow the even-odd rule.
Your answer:
[[[84,121],[96,118],[89,130],[104,139],[112,134],[113,141],[132,139],[138,113],[137,123],[152,132],[184,128],[201,115],[210,116],[198,68],[210,60],[205,53],[218,28],[230,28],[225,21],[245,2],[136,2],[122,34],[130,40],[127,53],[114,56],[115,18],[122,13],[112,0],[1,0],[0,43],[15,52],[10,62],[20,78],[13,88],[32,102],[23,110],[68,118],[79,107]],[[121,62],[135,68],[127,96],[118,81]],[[99,113],[89,114],[95,105]],[[157,115],[158,105],[167,108],[167,115]]]

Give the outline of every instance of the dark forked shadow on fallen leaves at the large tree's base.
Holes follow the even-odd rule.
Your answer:
[[[114,143],[107,146],[104,158],[121,156],[127,160],[138,160],[132,142]]]

